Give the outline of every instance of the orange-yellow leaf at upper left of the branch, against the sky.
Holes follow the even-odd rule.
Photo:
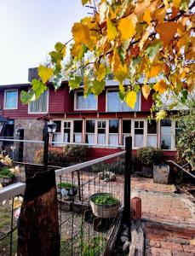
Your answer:
[[[76,44],[88,44],[89,37],[89,27],[81,23],[74,23],[72,26],[72,36]]]

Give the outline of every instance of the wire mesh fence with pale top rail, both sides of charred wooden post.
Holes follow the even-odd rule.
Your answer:
[[[60,255],[97,256],[103,253],[106,255],[110,251],[116,239],[116,225],[122,216],[124,155],[125,151],[55,171]],[[25,187],[25,183],[15,183],[0,189],[0,255],[16,253],[17,216],[14,216],[17,215],[15,212],[18,208],[14,198],[22,195]],[[112,195],[118,204],[117,214],[112,216],[113,209],[105,213],[104,207],[93,207],[92,199],[97,195]],[[5,200],[5,204],[2,204]],[[102,218],[105,217],[104,214],[108,214],[106,218]]]

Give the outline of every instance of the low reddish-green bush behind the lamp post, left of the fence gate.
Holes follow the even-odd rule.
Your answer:
[[[86,160],[89,148],[83,145],[66,145],[64,148],[49,148],[49,166],[70,166],[72,163]],[[37,150],[34,155],[36,164],[43,164],[43,149]]]

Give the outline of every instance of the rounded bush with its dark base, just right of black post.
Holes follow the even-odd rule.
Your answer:
[[[142,175],[144,177],[152,177],[153,165],[163,162],[163,151],[160,148],[139,148],[137,150],[137,158],[142,164]]]

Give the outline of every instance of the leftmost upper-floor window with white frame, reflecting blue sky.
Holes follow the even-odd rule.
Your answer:
[[[4,91],[4,109],[18,108],[18,90]]]

